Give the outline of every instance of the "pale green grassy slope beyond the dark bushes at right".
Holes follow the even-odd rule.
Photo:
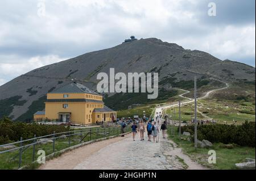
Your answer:
[[[246,102],[245,100],[202,99],[198,100],[197,106],[198,120],[206,120],[209,119],[207,117],[210,117],[217,120],[218,123],[227,121],[228,124],[233,124],[233,120],[236,120],[238,124],[246,120],[255,121],[255,104],[253,102]],[[166,113],[172,115],[172,119],[179,120],[179,110],[177,107],[166,110]],[[181,106],[181,120],[191,121],[193,117],[193,103]]]

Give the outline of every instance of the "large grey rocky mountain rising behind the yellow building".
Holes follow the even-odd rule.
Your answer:
[[[158,72],[162,87],[187,88],[194,75],[200,79],[255,82],[255,68],[240,62],[220,60],[209,53],[188,50],[156,38],[126,42],[113,48],[43,66],[14,78],[0,87],[0,117],[26,119],[44,108],[49,91],[76,78],[96,90],[99,72]],[[28,116],[29,115],[29,116]]]

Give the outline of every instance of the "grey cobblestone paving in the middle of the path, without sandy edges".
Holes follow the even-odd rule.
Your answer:
[[[163,155],[167,141],[159,143],[132,137],[115,142],[97,151],[75,169],[173,169]],[[170,144],[168,144],[170,145]]]

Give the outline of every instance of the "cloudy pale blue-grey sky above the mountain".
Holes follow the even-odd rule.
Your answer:
[[[0,85],[131,35],[255,67],[255,0],[2,0]]]

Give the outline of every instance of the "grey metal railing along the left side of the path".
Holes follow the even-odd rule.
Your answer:
[[[128,132],[129,128],[124,128],[124,132]],[[8,163],[16,163],[18,162],[18,169],[22,166],[25,166],[26,164],[32,163],[35,161],[36,156],[36,147],[43,147],[46,146],[48,151],[47,155],[56,153],[57,151],[70,148],[71,146],[79,145],[83,142],[88,142],[92,140],[97,140],[99,138],[104,137],[110,137],[110,136],[117,136],[119,134],[122,134],[121,127],[113,127],[113,128],[85,128],[85,129],[79,129],[75,131],[68,131],[68,132],[61,132],[61,133],[55,133],[48,134],[46,136],[40,136],[36,137],[34,135],[34,138],[30,138],[27,140],[23,140],[22,137],[20,137],[20,141],[11,142],[9,144],[0,145],[0,156],[2,154],[7,154],[6,157],[1,157],[1,159],[6,158],[6,162]],[[67,139],[67,142],[64,142],[64,140]],[[64,146],[59,146],[59,144],[65,143]],[[43,145],[42,145],[43,144]],[[8,149],[8,146],[15,147]],[[58,148],[56,148],[58,146]],[[7,149],[5,149],[5,147]],[[50,148],[52,147],[52,148]],[[15,151],[18,151],[18,153],[14,153]],[[27,151],[27,153],[25,153]],[[31,161],[28,161],[26,159],[26,163],[23,164],[22,157],[31,157]],[[46,155],[46,157],[47,157]],[[3,160],[0,159],[0,165]],[[6,162],[3,162],[6,164]],[[7,163],[7,164],[8,164]],[[0,166],[1,169],[1,166]],[[2,168],[5,169],[5,168]],[[15,169],[15,168],[14,168]]]

